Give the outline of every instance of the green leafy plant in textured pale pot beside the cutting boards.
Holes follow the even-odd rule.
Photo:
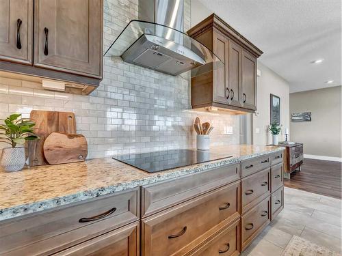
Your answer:
[[[34,122],[31,119],[20,118],[21,114],[12,114],[2,119],[0,125],[0,142],[10,147],[3,148],[0,165],[5,171],[20,171],[25,165],[25,141],[36,140]]]

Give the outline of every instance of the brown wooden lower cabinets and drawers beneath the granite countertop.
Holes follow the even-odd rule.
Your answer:
[[[0,255],[239,255],[283,208],[282,155],[2,221]]]

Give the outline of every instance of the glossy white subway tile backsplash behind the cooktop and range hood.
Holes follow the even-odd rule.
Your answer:
[[[129,20],[137,18],[137,0],[105,0],[104,47],[116,39]],[[190,27],[190,0],[185,0],[185,31]],[[196,116],[211,122],[212,145],[239,143],[239,134],[223,135],[223,126],[239,130],[236,115],[210,115],[189,111],[189,72],[169,76],[104,57],[103,81],[81,96],[46,91],[40,84],[0,77],[0,117],[32,109],[73,111],[77,132],[88,141],[88,158],[134,152],[196,147],[192,124]]]

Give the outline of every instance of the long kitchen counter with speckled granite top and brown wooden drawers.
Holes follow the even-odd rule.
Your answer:
[[[283,150],[213,147],[226,158],[158,173],[111,158],[1,172],[0,254],[238,255],[282,210]]]

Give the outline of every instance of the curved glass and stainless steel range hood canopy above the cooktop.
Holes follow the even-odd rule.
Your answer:
[[[124,61],[174,76],[192,70],[192,77],[223,68],[224,62],[187,34],[143,20],[131,20],[109,46],[105,57]]]

